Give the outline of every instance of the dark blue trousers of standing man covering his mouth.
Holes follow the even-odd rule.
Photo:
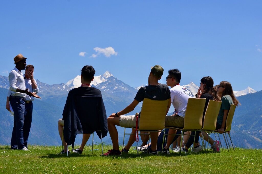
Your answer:
[[[24,135],[24,145],[26,148],[27,148],[29,132],[31,129],[32,115],[33,115],[33,102],[31,101],[30,103],[25,103],[23,135]]]

